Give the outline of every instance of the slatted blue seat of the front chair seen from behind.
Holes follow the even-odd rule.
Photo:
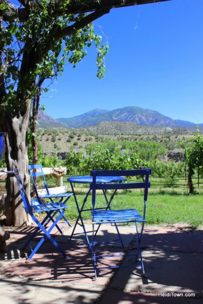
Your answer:
[[[121,209],[121,210],[92,210],[92,218],[94,223],[113,223],[113,222],[128,222],[128,221],[145,221],[136,209]]]

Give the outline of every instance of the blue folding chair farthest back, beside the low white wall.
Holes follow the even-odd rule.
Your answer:
[[[43,166],[42,165],[28,165],[28,169],[29,169],[29,173],[30,173],[30,176],[31,176],[31,179],[32,179],[33,188],[34,188],[34,192],[35,192],[37,200],[49,199],[51,201],[51,203],[59,203],[59,202],[62,203],[63,202],[63,204],[65,204],[69,200],[69,198],[73,195],[72,193],[50,194],[49,193],[49,188],[48,188],[48,185],[47,185],[47,182],[46,182],[46,179],[45,179],[45,173],[43,172]],[[39,169],[39,172],[34,172],[34,171],[36,171],[36,169]],[[37,187],[36,187],[36,184],[35,184],[35,181],[34,181],[34,177],[38,177],[38,176],[43,177],[45,189],[46,189],[46,192],[47,192],[47,194],[45,194],[45,195],[38,195]],[[54,202],[54,199],[55,200],[60,199],[60,200],[58,202]],[[57,210],[54,213],[53,216],[55,217],[58,212],[60,212],[60,210]],[[67,218],[64,215],[62,217],[63,217],[64,221],[68,224],[68,226],[71,227]],[[59,227],[58,227],[58,230],[61,234],[63,234]]]

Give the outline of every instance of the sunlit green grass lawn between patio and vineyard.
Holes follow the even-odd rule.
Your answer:
[[[84,195],[77,194],[79,204],[83,202]],[[97,206],[105,204],[104,196],[97,195]],[[67,205],[66,216],[69,219],[77,217],[76,205],[72,197]],[[86,204],[91,208],[91,196]],[[140,192],[126,192],[115,195],[111,204],[112,209],[136,208],[141,214],[143,211],[143,195]],[[84,212],[83,218],[91,218],[90,212]],[[148,224],[175,224],[186,223],[189,226],[199,227],[203,224],[203,196],[202,195],[161,195],[149,193],[146,205],[146,219]]]

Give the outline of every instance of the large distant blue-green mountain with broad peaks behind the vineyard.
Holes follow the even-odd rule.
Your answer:
[[[132,122],[139,126],[191,128],[194,123],[173,120],[161,113],[136,106],[127,106],[112,111],[94,109],[72,118],[59,118],[58,121],[71,128],[96,126],[101,122]]]

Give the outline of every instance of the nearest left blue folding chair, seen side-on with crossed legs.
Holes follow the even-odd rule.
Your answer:
[[[26,242],[26,244],[22,248],[24,250],[28,245],[30,245],[30,248],[31,248],[31,251],[32,251],[30,253],[30,255],[28,256],[26,261],[31,260],[33,255],[39,249],[39,247],[45,242],[46,238],[49,239],[54,244],[54,246],[63,254],[64,257],[68,257],[68,256],[66,256],[63,249],[61,249],[61,247],[58,245],[58,243],[53,239],[53,237],[50,235],[50,233],[54,229],[55,226],[57,227],[57,223],[63,217],[65,209],[70,208],[70,207],[64,205],[61,202],[43,204],[38,198],[34,201],[33,204],[30,205],[29,200],[27,198],[27,195],[25,193],[25,189],[24,189],[22,180],[20,178],[19,171],[18,171],[17,168],[14,168],[14,174],[15,174],[15,176],[17,178],[17,181],[18,181],[20,194],[21,194],[22,201],[23,201],[23,204],[24,204],[25,212],[28,213],[31,216],[31,218],[33,219],[33,221],[37,224],[37,227],[36,227],[35,231],[33,232],[31,237],[29,238],[29,240]],[[57,218],[54,219],[53,213],[55,214],[56,211],[57,212],[60,211],[60,212],[59,212],[59,215],[57,216]],[[46,216],[45,216],[45,218],[43,219],[42,222],[39,222],[39,220],[36,218],[34,213],[42,213],[42,212],[44,212],[46,214]],[[48,229],[46,229],[45,227],[50,221],[52,221],[53,223]],[[40,241],[35,246],[35,248],[32,249],[30,243],[40,231],[42,231],[45,236],[42,239],[40,239]]]

